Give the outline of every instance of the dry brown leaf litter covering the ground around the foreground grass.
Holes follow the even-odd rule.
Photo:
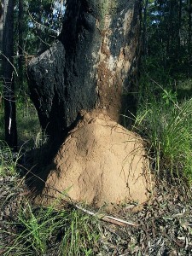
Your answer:
[[[159,183],[156,188],[143,209],[131,203],[110,212],[132,225],[119,226],[99,220],[100,235],[89,255],[192,255],[192,204],[189,196],[185,196],[191,191],[186,193],[182,185],[167,183]],[[23,179],[0,177],[0,255],[5,254],[5,247],[13,244],[13,234],[20,229],[18,212],[20,207],[25,211],[26,195]],[[49,241],[47,253],[29,255],[60,255],[57,236]]]

